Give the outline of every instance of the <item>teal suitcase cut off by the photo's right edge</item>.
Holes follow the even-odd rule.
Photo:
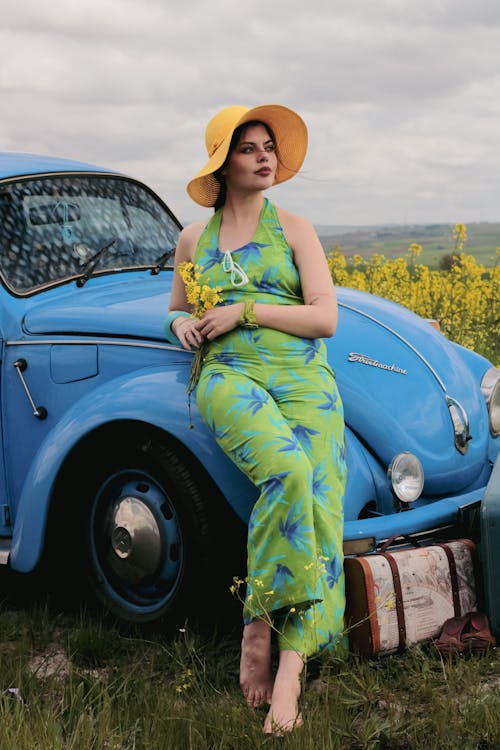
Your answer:
[[[481,562],[491,632],[500,638],[500,457],[481,504]]]

